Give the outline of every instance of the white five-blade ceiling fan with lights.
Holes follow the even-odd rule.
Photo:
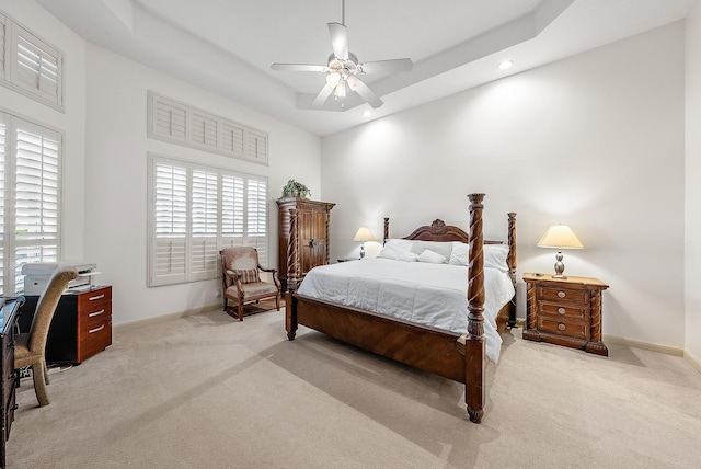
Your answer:
[[[410,71],[414,66],[411,59],[378,60],[359,64],[358,58],[348,50],[348,31],[345,25],[345,0],[342,0],[341,23],[329,23],[331,33],[331,48],[333,53],[329,56],[326,65],[309,64],[273,64],[273,70],[284,71],[317,71],[326,73],[326,83],[321,89],[311,106],[321,108],[331,94],[336,100],[341,99],[341,107],[344,107],[343,99],[346,90],[355,91],[367,101],[372,107],[380,107],[380,100],[372,90],[358,77],[366,73],[387,73],[394,71]]]

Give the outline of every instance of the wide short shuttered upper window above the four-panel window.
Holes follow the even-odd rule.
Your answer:
[[[148,95],[149,138],[267,164],[267,133],[160,96]]]

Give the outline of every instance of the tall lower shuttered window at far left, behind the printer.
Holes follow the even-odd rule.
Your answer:
[[[0,112],[0,293],[24,291],[22,266],[56,262],[61,135]]]

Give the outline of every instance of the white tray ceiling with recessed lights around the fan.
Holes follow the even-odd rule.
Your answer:
[[[309,110],[342,0],[37,0],[85,41],[325,136],[682,19],[697,0],[346,0],[361,62],[409,57],[410,72],[365,76],[384,101]],[[514,60],[507,71],[497,69]],[[196,104],[196,103],[194,103]]]

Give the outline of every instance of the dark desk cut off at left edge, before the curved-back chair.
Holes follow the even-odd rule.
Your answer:
[[[0,369],[2,369],[2,385],[0,385],[0,420],[2,421],[2,438],[0,438],[0,468],[4,468],[4,442],[10,437],[10,426],[14,421],[14,390],[18,375],[14,369],[14,324],[18,311],[24,302],[23,297],[5,298],[0,310]]]

